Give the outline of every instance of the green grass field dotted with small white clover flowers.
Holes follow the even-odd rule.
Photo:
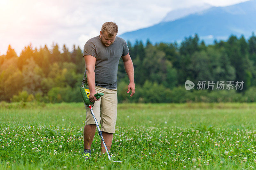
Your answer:
[[[255,169],[256,103],[118,104],[110,163],[83,103],[0,103],[0,169]]]

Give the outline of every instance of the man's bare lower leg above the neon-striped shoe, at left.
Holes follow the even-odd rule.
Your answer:
[[[96,124],[84,125],[84,149],[91,149],[95,132],[96,132]]]

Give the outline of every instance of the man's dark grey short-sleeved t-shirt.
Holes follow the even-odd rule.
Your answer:
[[[128,46],[124,39],[117,37],[113,44],[105,46],[102,44],[100,35],[89,39],[84,45],[84,55],[92,55],[96,58],[95,63],[95,85],[116,89],[117,69],[121,56],[129,53]],[[85,83],[85,74],[82,83]]]

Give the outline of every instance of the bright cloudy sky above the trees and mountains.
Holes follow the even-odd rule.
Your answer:
[[[193,5],[228,6],[247,0],[0,0],[0,55],[11,45],[19,56],[30,43],[40,48],[65,44],[83,49],[114,21],[118,35],[159,23],[168,12]]]

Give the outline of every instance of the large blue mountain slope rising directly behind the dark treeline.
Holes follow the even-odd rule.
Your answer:
[[[174,42],[180,43],[184,37],[197,33],[206,44],[214,39],[226,40],[233,34],[245,38],[256,31],[256,0],[226,7],[211,7],[207,10],[190,14],[180,19],[161,22],[148,28],[126,32],[120,37],[134,43],[149,39],[152,43]]]

